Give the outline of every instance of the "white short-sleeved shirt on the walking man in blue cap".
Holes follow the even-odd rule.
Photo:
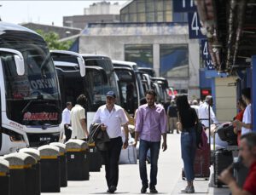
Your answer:
[[[104,123],[107,126],[109,138],[122,136],[121,125],[127,122],[124,109],[118,105],[114,105],[111,112],[106,105],[100,106],[93,118],[93,123]]]

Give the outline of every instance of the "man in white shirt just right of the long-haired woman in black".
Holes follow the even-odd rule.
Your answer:
[[[201,123],[205,125],[205,127],[209,127],[209,106],[210,106],[210,119],[212,123],[218,123],[218,119],[216,118],[213,110],[212,110],[213,100],[211,95],[207,95],[206,100],[203,104],[201,104],[198,108],[198,118],[201,119]]]

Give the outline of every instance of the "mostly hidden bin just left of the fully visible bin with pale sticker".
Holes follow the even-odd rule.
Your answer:
[[[57,146],[60,149],[61,186],[67,186],[67,151],[66,145],[60,142],[50,143],[49,146]]]

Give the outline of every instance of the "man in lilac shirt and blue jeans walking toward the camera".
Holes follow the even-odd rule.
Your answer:
[[[156,93],[149,89],[146,91],[147,104],[138,107],[135,129],[135,146],[138,137],[139,146],[139,171],[142,180],[141,192],[145,193],[148,189],[148,175],[146,167],[147,152],[150,149],[150,183],[151,193],[157,193],[155,186],[157,184],[158,158],[160,152],[161,135],[163,136],[162,149],[166,151],[166,112],[165,108],[155,103]]]

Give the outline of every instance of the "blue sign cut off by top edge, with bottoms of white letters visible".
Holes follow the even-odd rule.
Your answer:
[[[194,0],[173,0],[173,12],[191,12],[196,10]]]

